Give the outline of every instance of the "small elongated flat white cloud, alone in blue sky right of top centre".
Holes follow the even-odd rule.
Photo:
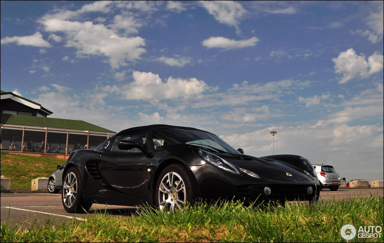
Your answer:
[[[207,40],[202,42],[202,45],[207,48],[224,48],[224,49],[233,49],[233,48],[243,48],[243,47],[253,47],[258,42],[258,38],[252,37],[248,40],[230,40],[224,37],[210,37]]]

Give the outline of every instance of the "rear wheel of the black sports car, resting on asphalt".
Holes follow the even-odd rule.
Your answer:
[[[61,201],[68,213],[87,213],[92,203],[87,203],[83,197],[83,189],[79,171],[71,167],[65,173]]]

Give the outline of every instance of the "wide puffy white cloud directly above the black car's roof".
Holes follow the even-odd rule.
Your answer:
[[[196,78],[182,79],[169,77],[163,82],[158,74],[133,72],[134,81],[125,85],[113,85],[101,88],[104,92],[116,92],[124,100],[169,100],[174,98],[199,97],[210,89]]]

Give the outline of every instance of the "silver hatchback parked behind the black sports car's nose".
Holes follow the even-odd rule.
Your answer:
[[[320,182],[320,190],[328,187],[331,191],[336,191],[341,186],[340,176],[331,165],[313,165],[317,178]]]

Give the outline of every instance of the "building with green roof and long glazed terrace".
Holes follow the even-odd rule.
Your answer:
[[[49,118],[40,104],[1,91],[1,150],[17,153],[69,155],[80,148],[96,148],[116,132],[81,120]]]

